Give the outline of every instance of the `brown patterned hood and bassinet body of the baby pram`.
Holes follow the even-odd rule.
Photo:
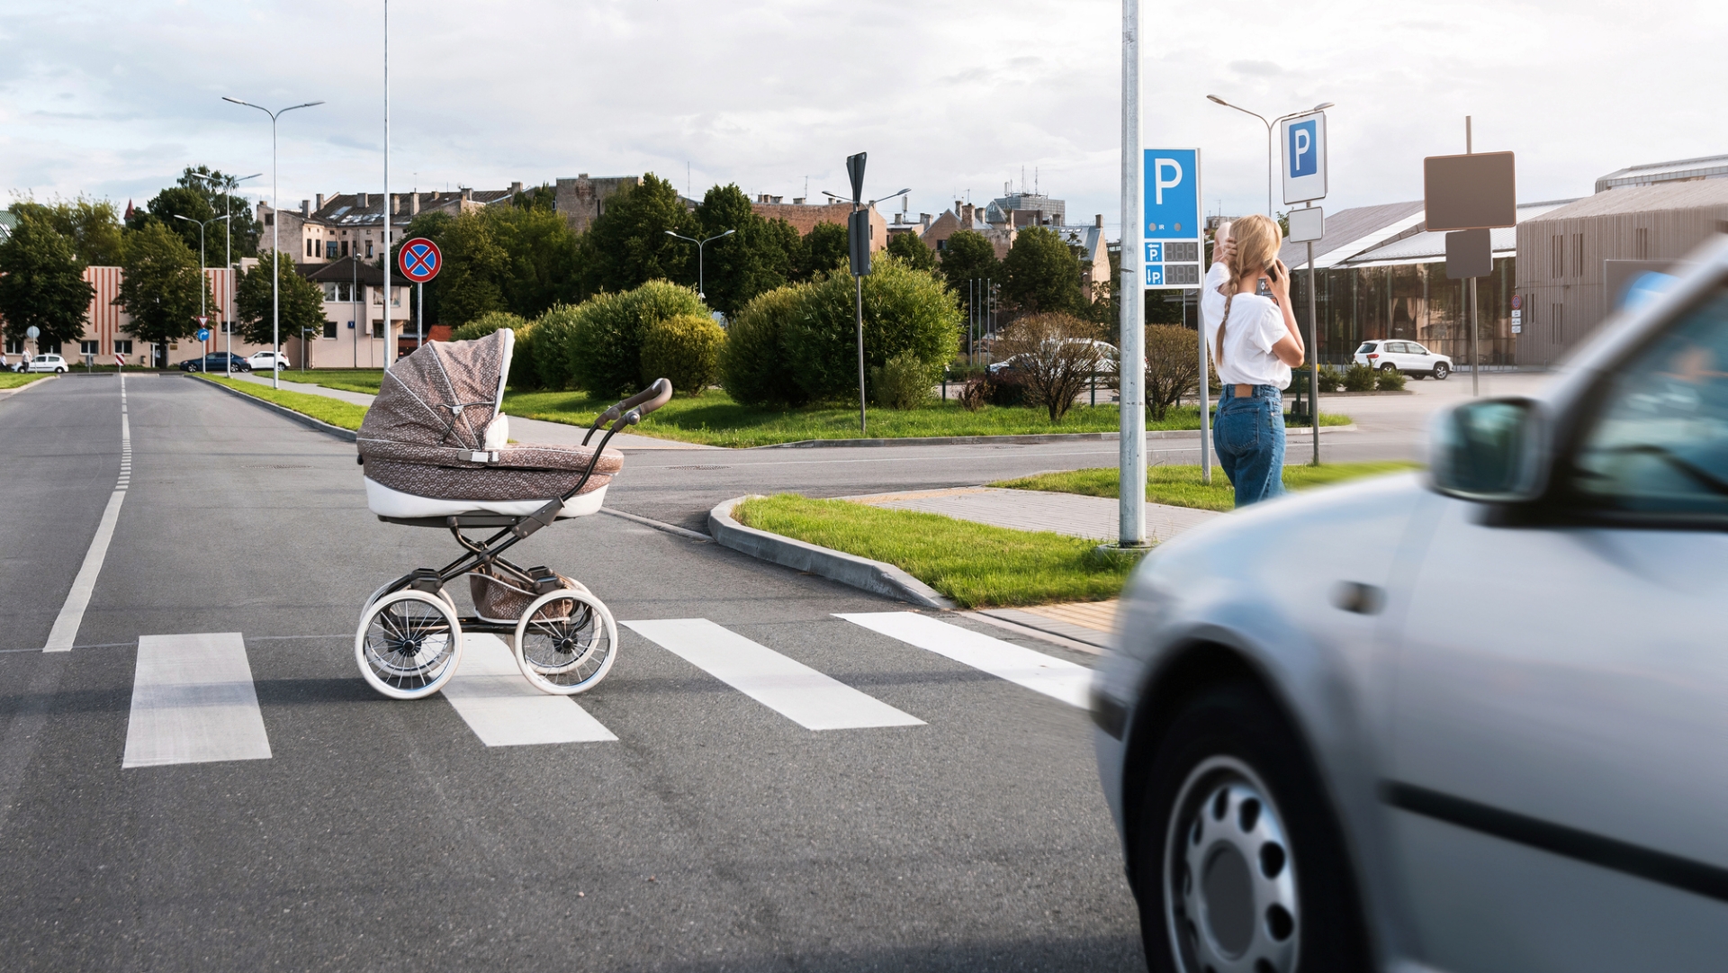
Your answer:
[[[501,328],[475,340],[427,342],[389,366],[359,423],[366,479],[456,501],[546,501],[574,487],[593,448],[506,441],[508,418],[498,406],[513,349],[515,334]],[[582,494],[620,468],[624,455],[607,449]]]

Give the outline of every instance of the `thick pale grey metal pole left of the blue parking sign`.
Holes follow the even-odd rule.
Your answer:
[[[1140,0],[1121,0],[1121,358],[1118,543],[1146,544],[1146,290],[1139,263],[1144,232],[1140,150]]]

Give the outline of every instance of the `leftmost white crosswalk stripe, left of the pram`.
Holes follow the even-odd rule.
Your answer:
[[[142,636],[121,767],[268,760],[240,633]]]

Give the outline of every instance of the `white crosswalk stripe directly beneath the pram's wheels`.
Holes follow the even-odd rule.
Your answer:
[[[494,634],[461,636],[461,667],[444,684],[444,698],[487,747],[617,740],[570,696],[536,690]]]

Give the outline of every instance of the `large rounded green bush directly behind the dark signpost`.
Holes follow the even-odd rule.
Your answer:
[[[859,359],[852,277],[833,273],[798,289],[797,313],[781,332],[786,366],[810,399],[857,391]],[[961,311],[942,280],[892,256],[864,278],[864,363],[880,368],[911,353],[926,368],[926,387],[959,349]]]

